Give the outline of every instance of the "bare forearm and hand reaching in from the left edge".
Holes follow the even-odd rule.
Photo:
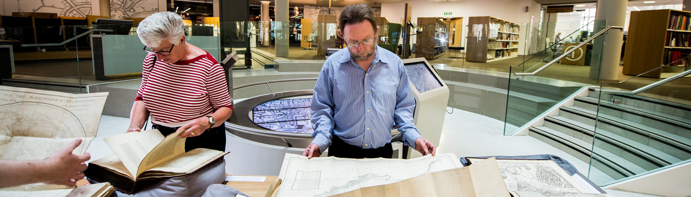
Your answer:
[[[76,139],[44,160],[0,160],[0,188],[30,183],[75,186],[84,178],[84,162],[91,158],[88,153],[72,154],[81,143]]]

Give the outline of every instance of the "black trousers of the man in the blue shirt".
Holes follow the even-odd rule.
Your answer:
[[[391,143],[387,143],[383,147],[375,149],[363,149],[361,147],[345,143],[338,136],[334,136],[329,146],[328,156],[335,156],[340,158],[391,158],[393,155],[393,148]]]

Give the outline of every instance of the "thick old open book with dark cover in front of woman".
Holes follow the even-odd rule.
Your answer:
[[[92,161],[84,174],[133,194],[161,178],[195,172],[226,154],[203,148],[184,152],[185,138],[178,138],[179,134],[164,137],[158,129],[151,129],[105,138],[115,154]]]

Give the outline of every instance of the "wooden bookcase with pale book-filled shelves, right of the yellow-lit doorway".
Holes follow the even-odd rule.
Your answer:
[[[468,27],[466,61],[486,63],[518,56],[520,25],[495,17],[470,17]]]

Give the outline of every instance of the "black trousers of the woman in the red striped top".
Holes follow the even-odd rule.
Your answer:
[[[168,136],[176,132],[180,127],[153,125],[153,128],[158,129],[163,136]],[[225,123],[218,127],[207,129],[199,136],[188,137],[184,141],[184,152],[189,152],[196,148],[215,149],[225,152]]]

